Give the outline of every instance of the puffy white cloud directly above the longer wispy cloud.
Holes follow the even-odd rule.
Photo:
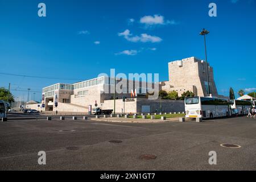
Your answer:
[[[147,26],[155,26],[155,25],[165,25],[165,24],[178,24],[175,20],[164,20],[164,16],[162,15],[154,15],[154,16],[143,16],[140,20],[140,23],[145,24]]]

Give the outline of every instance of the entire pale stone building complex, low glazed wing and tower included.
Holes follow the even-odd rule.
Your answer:
[[[209,87],[212,96],[218,96],[213,78],[213,68],[206,65],[205,61],[189,57],[183,60],[168,63],[169,81],[159,82],[159,90],[170,92],[175,90],[179,96],[187,90],[195,93],[195,96],[207,96],[208,66]],[[126,81],[126,84],[120,83]],[[132,86],[130,86],[130,84]],[[114,85],[119,92],[114,94]],[[91,80],[76,82],[74,84],[54,84],[43,88],[42,110],[65,111],[87,113],[90,107],[102,109],[114,108],[116,113],[153,113],[184,111],[184,101],[148,100],[148,92],[152,92],[154,84],[142,81],[123,80],[102,76]],[[136,90],[137,94],[134,94]],[[135,96],[137,95],[137,96]],[[125,97],[125,103],[122,98]],[[125,105],[124,105],[125,104]]]

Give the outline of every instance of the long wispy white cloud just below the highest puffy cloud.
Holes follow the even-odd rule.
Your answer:
[[[118,33],[118,36],[123,36],[126,40],[130,42],[161,42],[162,39],[158,36],[152,36],[148,34],[141,34],[141,36],[133,36],[133,34],[130,33],[130,30],[125,30],[124,32]]]

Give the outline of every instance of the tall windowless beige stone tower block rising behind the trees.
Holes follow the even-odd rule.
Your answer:
[[[196,57],[188,57],[168,63],[169,81],[162,82],[162,90],[166,90],[167,92],[175,90],[179,96],[183,92],[187,92],[187,90],[195,93],[195,96],[207,96],[207,66],[210,94],[218,97],[213,77],[213,68],[209,64],[206,65],[205,61]]]

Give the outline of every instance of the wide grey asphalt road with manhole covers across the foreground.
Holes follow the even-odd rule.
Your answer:
[[[255,131],[256,119],[246,117],[203,123],[14,120],[0,123],[0,170],[255,170]],[[46,165],[38,164],[39,151],[46,151]],[[209,151],[216,151],[216,165],[209,164]]]

